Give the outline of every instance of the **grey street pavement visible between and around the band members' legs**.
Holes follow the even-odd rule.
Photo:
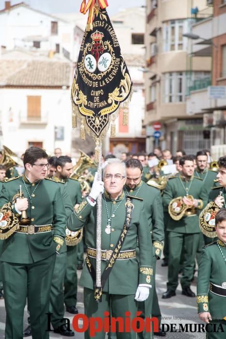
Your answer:
[[[176,324],[176,329],[179,329],[179,324],[197,324],[200,323],[197,317],[197,308],[196,308],[196,298],[186,297],[181,295],[181,286],[178,286],[176,291],[177,295],[170,299],[162,299],[162,293],[166,291],[166,281],[167,281],[167,267],[161,266],[162,260],[157,262],[157,270],[156,270],[156,287],[157,293],[159,297],[159,304],[162,311],[162,324]],[[81,271],[77,271],[80,276]],[[196,277],[192,283],[191,289],[196,293]],[[84,313],[84,305],[83,305],[83,289],[78,287],[78,303],[77,308],[79,313]],[[27,327],[27,307],[24,312],[24,328]],[[72,320],[73,314],[65,312],[65,318],[70,319],[70,324],[72,328]],[[4,338],[4,327],[5,327],[5,308],[4,308],[4,300],[0,300],[0,339]],[[165,325],[165,327],[167,327]],[[31,338],[31,337],[28,337]],[[62,337],[58,334],[50,332],[50,339],[58,338],[65,339],[66,337]],[[75,339],[84,339],[83,333],[76,333]],[[160,337],[155,337],[158,339]],[[182,332],[167,332],[167,339],[204,339],[206,338],[204,333],[182,333]]]

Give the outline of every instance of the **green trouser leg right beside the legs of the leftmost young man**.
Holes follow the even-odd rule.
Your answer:
[[[66,252],[56,257],[51,282],[49,312],[52,313],[51,324],[54,329],[58,329],[63,324],[61,319],[64,317],[63,281],[66,271],[66,258]]]

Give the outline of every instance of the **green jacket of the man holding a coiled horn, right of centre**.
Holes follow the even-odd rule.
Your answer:
[[[199,200],[198,207],[196,208],[197,213],[193,216],[182,216],[182,218],[177,221],[173,220],[169,216],[167,231],[178,233],[199,233],[200,230],[198,226],[198,210],[202,209],[203,205],[206,204],[208,199],[207,195],[205,194],[205,190],[202,189],[203,183],[201,179],[192,177],[190,181],[185,182],[185,180],[181,176],[169,178],[163,193],[164,210],[168,209],[168,204],[172,199],[184,197],[186,195],[185,188],[181,184],[181,181],[185,187],[190,187],[188,190],[188,194],[192,195],[194,199]]]

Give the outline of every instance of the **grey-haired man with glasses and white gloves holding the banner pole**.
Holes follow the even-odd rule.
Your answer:
[[[125,312],[136,317],[136,301],[148,298],[152,281],[152,245],[147,228],[147,217],[141,198],[126,196],[123,186],[126,182],[125,164],[119,159],[109,159],[103,172],[103,180],[97,181],[95,174],[90,195],[68,219],[68,228],[76,231],[85,225],[87,258],[83,267],[80,284],[84,286],[85,314],[90,317],[101,317],[111,311],[112,317],[125,318]],[[96,199],[102,195],[102,229],[101,271],[105,280],[102,302],[96,303],[94,295],[96,268]],[[132,210],[132,212],[131,212]],[[139,263],[136,258],[136,247],[139,247]],[[107,272],[108,275],[107,275]],[[105,277],[105,278],[104,278]],[[103,283],[102,283],[103,284]],[[136,300],[135,300],[136,299]],[[135,339],[136,333],[116,333],[117,339]],[[90,338],[89,330],[85,339]],[[104,339],[105,332],[98,332],[96,339]]]

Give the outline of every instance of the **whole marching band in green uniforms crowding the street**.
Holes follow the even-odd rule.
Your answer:
[[[63,318],[64,305],[68,312],[78,313],[77,269],[82,269],[79,284],[84,287],[89,318],[103,319],[109,312],[111,317],[127,316],[132,321],[139,310],[141,317],[157,317],[160,324],[155,269],[162,253],[161,264],[168,267],[162,298],[176,295],[179,273],[182,294],[195,297],[190,286],[200,267],[199,317],[207,324],[221,324],[226,332],[226,156],[216,164],[208,150],[196,155],[178,150],[173,156],[157,147],[150,154],[122,153],[120,159],[108,154],[102,156],[102,178],[95,174],[94,154],[87,157],[88,165],[78,171],[59,148],[49,157],[44,150],[30,147],[23,154],[21,175],[13,176],[18,174],[15,168],[0,165],[0,298],[5,299],[5,338],[49,338],[48,312],[55,333],[74,336]],[[102,276],[101,286],[96,286],[100,194]],[[208,206],[212,210],[207,210],[205,221],[216,220],[212,234],[199,228],[200,212]],[[26,301],[30,317],[23,331]],[[155,335],[166,333],[159,329]],[[213,333],[208,338],[224,335]],[[151,338],[145,329],[108,335],[136,336]],[[90,338],[89,329],[85,338]],[[105,332],[95,338],[104,339]]]

